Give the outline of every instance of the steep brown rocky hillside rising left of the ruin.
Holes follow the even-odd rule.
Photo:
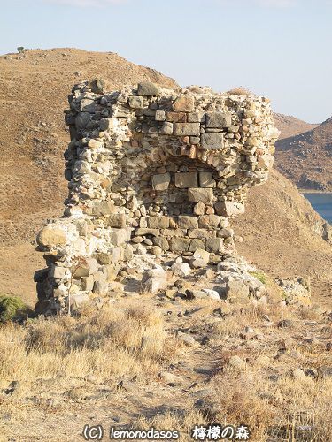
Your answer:
[[[102,76],[110,88],[139,80],[174,80],[112,52],[28,50],[0,57],[0,243],[31,240],[42,220],[58,216],[66,195],[64,123],[74,83]],[[14,178],[13,178],[14,177]]]

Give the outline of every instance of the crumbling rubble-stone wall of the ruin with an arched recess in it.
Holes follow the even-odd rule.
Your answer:
[[[107,92],[93,80],[69,103],[69,195],[37,238],[47,263],[35,272],[37,312],[106,296],[124,268],[235,255],[229,220],[274,160],[269,100],[150,82]]]

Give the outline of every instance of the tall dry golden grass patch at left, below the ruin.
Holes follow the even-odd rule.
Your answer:
[[[0,328],[0,379],[101,379],[157,372],[176,351],[156,310],[105,309],[93,316],[38,318]]]

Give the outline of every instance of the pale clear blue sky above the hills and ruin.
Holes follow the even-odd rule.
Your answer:
[[[245,86],[274,110],[332,115],[332,0],[0,0],[0,52],[117,52],[182,86]],[[1,75],[1,72],[0,72]]]

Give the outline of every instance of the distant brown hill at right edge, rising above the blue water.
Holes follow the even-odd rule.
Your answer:
[[[299,188],[332,190],[332,118],[276,143],[276,165]]]

